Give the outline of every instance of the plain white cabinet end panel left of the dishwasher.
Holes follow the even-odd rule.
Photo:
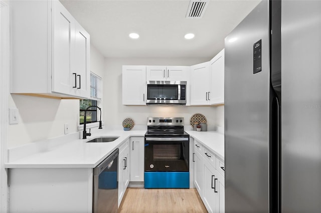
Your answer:
[[[91,212],[92,168],[9,168],[8,212]]]

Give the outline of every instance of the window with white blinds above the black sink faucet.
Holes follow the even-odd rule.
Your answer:
[[[97,106],[97,102],[101,100],[102,83],[101,77],[90,72],[90,99],[80,100],[80,124],[84,124],[85,110],[89,106]],[[97,108],[91,107],[87,110],[86,122],[97,122]]]

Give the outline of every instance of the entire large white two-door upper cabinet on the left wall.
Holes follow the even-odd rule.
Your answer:
[[[11,8],[11,92],[88,98],[89,34],[58,0]]]

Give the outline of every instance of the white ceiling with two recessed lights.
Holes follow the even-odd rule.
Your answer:
[[[186,18],[190,0],[60,0],[105,57],[208,57],[260,0],[209,0]],[[137,32],[136,40],[128,37]],[[184,35],[195,33],[186,40]]]

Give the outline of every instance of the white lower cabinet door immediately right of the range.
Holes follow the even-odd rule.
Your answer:
[[[194,185],[203,197],[203,157],[198,151],[194,152]]]

